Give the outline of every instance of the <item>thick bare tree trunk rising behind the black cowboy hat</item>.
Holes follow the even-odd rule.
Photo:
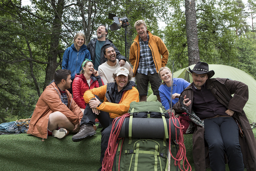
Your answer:
[[[196,27],[195,0],[185,0],[188,65],[200,61]]]

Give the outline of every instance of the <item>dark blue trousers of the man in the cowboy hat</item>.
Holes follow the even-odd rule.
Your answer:
[[[243,156],[239,144],[238,126],[233,117],[204,120],[204,139],[209,146],[212,171],[225,171],[225,153],[230,171],[243,171]]]

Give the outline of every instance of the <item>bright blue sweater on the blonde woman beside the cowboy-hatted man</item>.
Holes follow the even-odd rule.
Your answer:
[[[173,90],[172,94],[178,93],[181,94],[187,86],[190,85],[189,82],[187,82],[183,78],[173,78]],[[159,95],[161,98],[161,103],[164,106],[166,110],[170,109],[170,95],[171,95],[171,87],[168,87],[166,84],[165,85],[160,85],[159,87]],[[172,100],[172,106],[178,102],[178,98],[175,98]]]

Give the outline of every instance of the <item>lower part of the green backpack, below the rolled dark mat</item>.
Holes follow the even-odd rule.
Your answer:
[[[123,143],[122,143],[123,142]],[[122,148],[121,148],[122,147]],[[167,171],[168,146],[163,146],[162,139],[132,139],[119,141],[112,171]]]

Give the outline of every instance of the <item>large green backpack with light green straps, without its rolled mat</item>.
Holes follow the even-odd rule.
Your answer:
[[[167,171],[169,135],[166,118],[169,113],[160,102],[131,102],[129,111],[129,138],[119,140],[116,155],[114,157],[112,171]],[[162,139],[133,138],[132,120],[135,118],[158,118],[163,120],[164,137]],[[169,126],[169,125],[168,125]],[[171,153],[176,157],[178,145],[171,142]],[[171,158],[171,171],[179,171]]]

